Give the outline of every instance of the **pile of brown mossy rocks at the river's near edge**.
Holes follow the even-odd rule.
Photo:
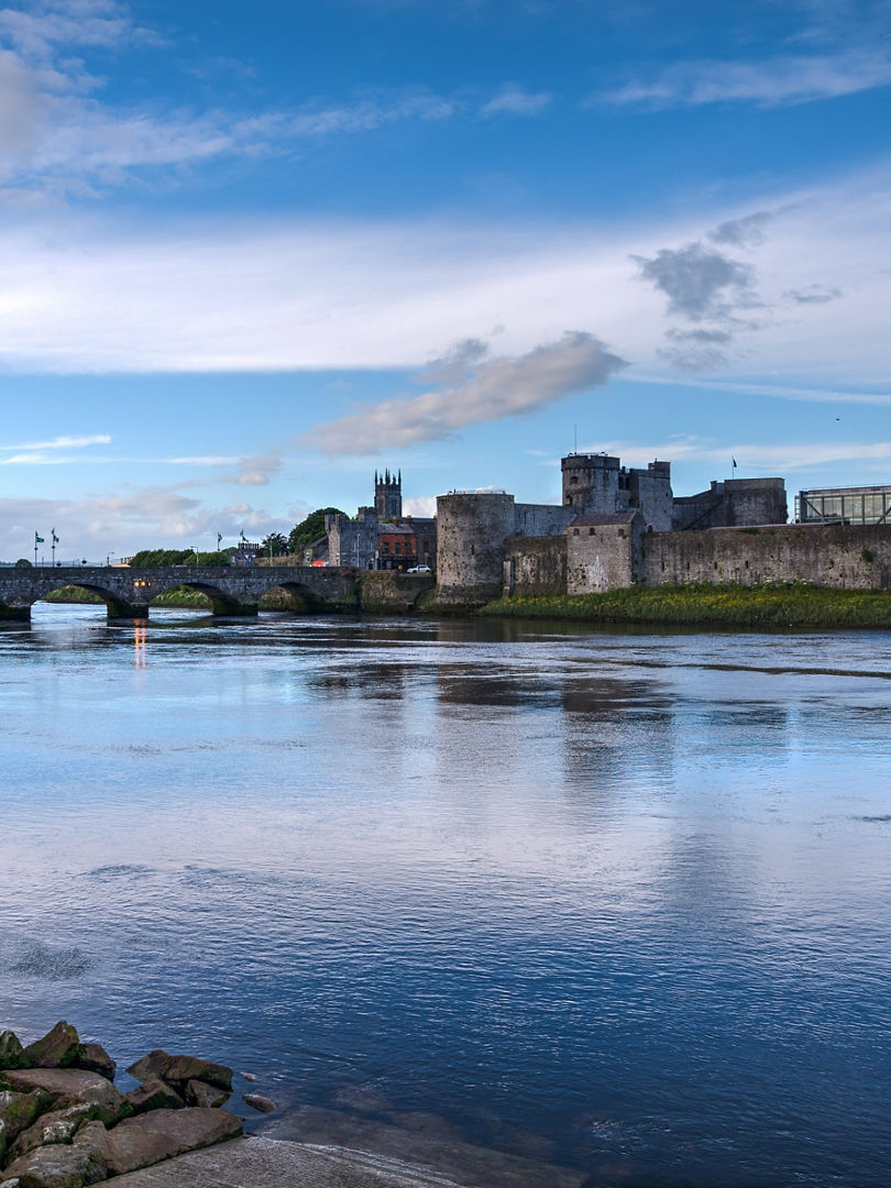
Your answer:
[[[0,1032],[2,1188],[82,1188],[242,1132],[222,1108],[233,1076],[223,1064],[152,1051],[127,1069],[140,1082],[128,1093],[115,1088],[115,1072],[69,1023],[27,1047]],[[267,1099],[255,1107],[268,1108]]]

